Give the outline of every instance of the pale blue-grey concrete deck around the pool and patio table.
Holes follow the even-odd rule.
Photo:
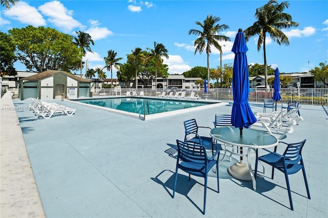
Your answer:
[[[328,216],[328,106],[303,105],[304,120],[282,140],[307,140],[302,156],[311,200],[306,198],[301,172],[290,176],[292,211],[283,173],[275,171],[271,180],[267,166],[253,190],[252,182],[227,173],[238,159],[234,157],[219,166],[220,193],[216,192],[216,179],[209,178],[206,215],[202,215],[202,178],[192,176],[188,181],[188,175],[180,170],[172,199],[175,140],[183,140],[183,121],[195,118],[200,126],[214,127],[214,115],[230,114],[232,102],[145,121],[69,101],[49,102],[73,107],[76,112],[50,119],[39,119],[29,110],[16,112],[47,217]],[[31,100],[15,99],[13,103],[28,108]],[[263,111],[262,104],[250,105],[253,112]],[[7,127],[3,118],[1,127]],[[2,210],[6,209],[3,199],[1,204]]]

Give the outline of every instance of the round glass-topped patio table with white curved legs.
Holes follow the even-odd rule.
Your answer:
[[[253,182],[253,189],[255,190],[256,181],[250,161],[251,149],[275,147],[278,144],[278,139],[273,135],[262,132],[261,130],[250,129],[250,128],[243,128],[242,135],[240,135],[240,129],[234,126],[219,126],[213,128],[210,132],[210,135],[213,139],[223,142],[225,144],[238,146],[238,147],[248,147],[247,155],[241,155],[241,154],[238,155],[247,157],[248,168]],[[226,147],[225,149],[227,149],[227,146],[225,147]],[[235,170],[235,168],[236,167],[230,166],[228,168],[228,172]],[[239,179],[238,171],[234,171],[233,173],[229,172],[229,174],[235,177],[236,179]]]

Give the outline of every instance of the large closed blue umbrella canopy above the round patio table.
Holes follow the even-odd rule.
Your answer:
[[[232,72],[232,94],[234,103],[231,112],[231,123],[240,128],[248,128],[255,123],[256,117],[254,116],[250,104],[248,102],[250,84],[249,72],[246,52],[248,51],[245,36],[241,29],[239,29],[232,52],[235,53],[234,67]]]

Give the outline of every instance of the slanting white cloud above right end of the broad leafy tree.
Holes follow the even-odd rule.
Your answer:
[[[47,2],[38,7],[38,10],[45,16],[50,23],[66,32],[72,31],[76,27],[83,28],[83,25],[79,21],[75,20],[72,15],[73,11],[68,10],[58,1]]]

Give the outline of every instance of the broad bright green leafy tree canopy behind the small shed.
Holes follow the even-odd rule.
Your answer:
[[[79,69],[79,50],[72,36],[52,28],[27,26],[8,31],[16,45],[16,55],[30,71],[71,72]]]

